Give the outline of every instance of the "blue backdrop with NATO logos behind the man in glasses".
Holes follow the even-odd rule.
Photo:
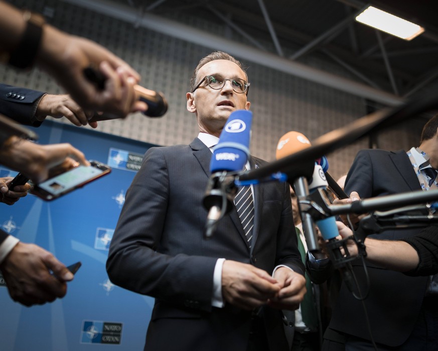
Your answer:
[[[28,195],[13,206],[0,204],[3,230],[67,266],[82,262],[67,295],[43,306],[15,303],[0,279],[0,349],[140,350],[154,300],[111,284],[105,262],[124,194],[154,145],[51,121],[35,131],[39,143],[70,143],[112,172],[52,202]],[[0,168],[1,177],[9,174],[16,173]]]

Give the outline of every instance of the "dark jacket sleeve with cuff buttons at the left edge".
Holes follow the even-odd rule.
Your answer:
[[[22,125],[39,127],[42,122],[32,121],[36,102],[44,95],[42,91],[0,84],[0,113]]]

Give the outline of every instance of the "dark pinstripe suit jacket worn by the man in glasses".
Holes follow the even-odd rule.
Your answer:
[[[112,282],[156,298],[145,349],[245,350],[251,313],[211,306],[218,258],[252,264],[269,273],[279,264],[303,274],[289,189],[276,182],[254,186],[255,244],[250,250],[237,211],[203,239],[202,205],[212,153],[199,140],[152,148],[145,154],[111,241]],[[251,159],[251,166],[263,161]],[[274,349],[287,349],[280,311],[263,308]],[[282,347],[283,346],[283,347]]]

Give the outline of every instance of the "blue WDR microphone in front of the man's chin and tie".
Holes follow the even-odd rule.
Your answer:
[[[213,148],[211,176],[203,199],[203,205],[209,211],[204,231],[206,239],[213,236],[219,219],[233,208],[237,193],[235,175],[244,169],[249,158],[251,123],[251,111],[233,111],[221,132],[219,143]]]

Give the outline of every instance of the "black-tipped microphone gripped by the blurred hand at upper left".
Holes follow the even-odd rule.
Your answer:
[[[105,87],[106,77],[99,71],[92,67],[84,68],[83,73],[85,77],[92,83],[95,83],[99,89]],[[146,89],[138,84],[134,85],[135,94],[138,96],[138,100],[145,102],[148,105],[148,109],[143,114],[148,117],[161,117],[167,112],[168,103],[162,92]],[[111,113],[95,114],[90,122],[99,122],[114,120],[120,118]]]

